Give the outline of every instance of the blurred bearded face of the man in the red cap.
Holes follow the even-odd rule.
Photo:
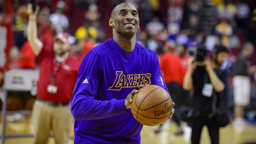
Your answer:
[[[70,45],[68,43],[64,43],[60,39],[56,39],[53,44],[54,53],[58,56],[63,56],[70,50]]]

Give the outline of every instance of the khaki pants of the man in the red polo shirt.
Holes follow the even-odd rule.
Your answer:
[[[46,144],[50,131],[56,144],[68,143],[72,115],[70,105],[50,106],[47,103],[35,101],[32,118],[34,122],[34,143]]]

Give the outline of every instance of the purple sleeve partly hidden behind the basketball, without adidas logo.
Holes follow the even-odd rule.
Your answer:
[[[157,85],[157,86],[162,87],[163,89],[165,89],[169,93],[169,91],[166,87],[166,83],[164,82],[163,75],[161,73],[160,63],[159,63],[158,57],[156,55],[154,57],[154,60],[155,60],[155,66],[156,66],[156,74],[155,74],[155,78],[154,78],[155,79],[154,84]]]

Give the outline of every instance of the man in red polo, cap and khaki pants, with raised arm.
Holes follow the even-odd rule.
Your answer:
[[[53,130],[56,143],[67,143],[70,125],[70,100],[78,76],[80,59],[70,55],[68,35],[58,33],[52,37],[49,28],[49,14],[42,9],[37,17],[28,5],[28,41],[40,66],[37,100],[33,107],[34,143],[47,143],[50,130]],[[42,22],[41,22],[42,21]],[[40,39],[37,37],[36,22]],[[53,42],[53,49],[52,49]]]

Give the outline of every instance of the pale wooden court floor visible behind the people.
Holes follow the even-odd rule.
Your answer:
[[[30,115],[25,116],[25,120],[16,122],[7,122],[6,132],[7,134],[31,134],[32,124]],[[2,120],[2,119],[1,119]],[[2,124],[2,122],[1,122]],[[2,125],[1,125],[2,126]],[[70,135],[73,133],[73,125],[70,126]],[[153,130],[157,129],[156,126],[144,126],[141,131],[141,143],[142,144],[169,144],[169,143],[190,143],[189,135],[187,133],[184,136],[174,136],[177,130],[177,125],[174,122],[167,122],[163,126],[163,131],[159,135],[154,135]],[[30,144],[33,142],[33,138],[7,138],[5,143],[7,144]],[[49,138],[48,144],[54,144],[54,139]],[[73,143],[70,139],[69,143]],[[207,127],[202,130],[201,141],[202,144],[210,143],[210,137],[208,135]],[[222,144],[242,144],[242,143],[256,143],[256,124],[246,124],[244,131],[241,134],[236,134],[231,125],[221,128],[220,130],[220,143]]]

